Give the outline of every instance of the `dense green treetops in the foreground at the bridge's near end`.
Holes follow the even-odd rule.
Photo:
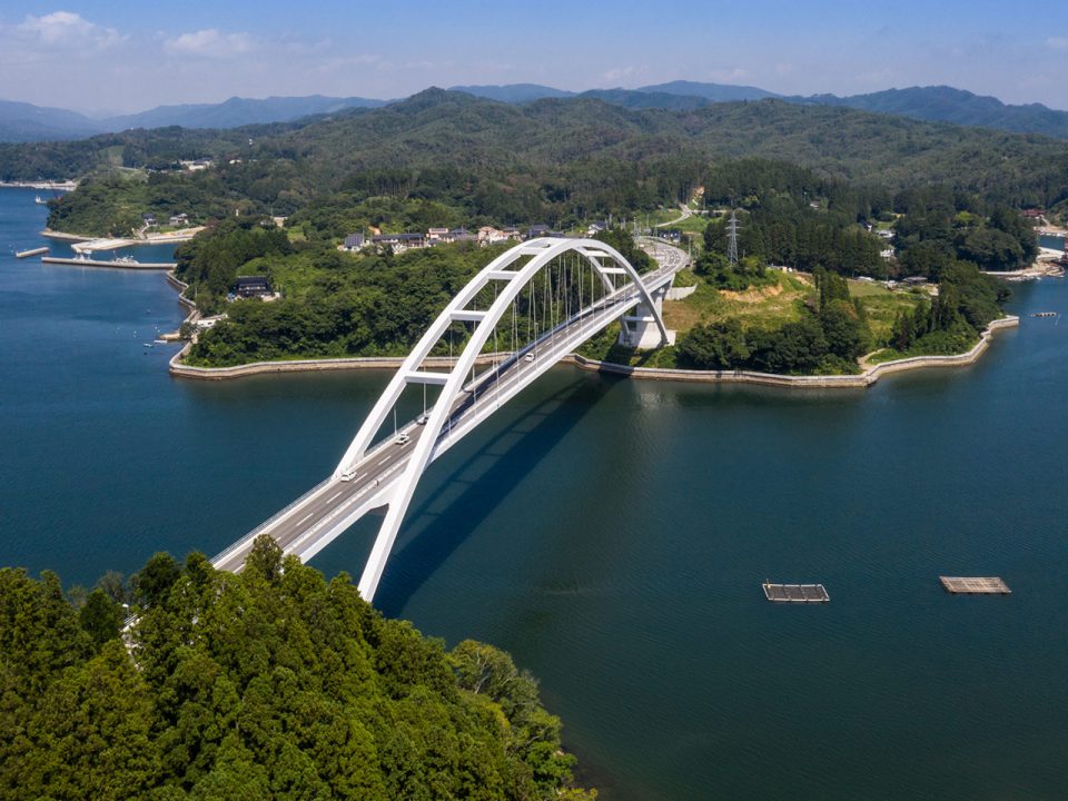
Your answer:
[[[593,799],[507,654],[446,651],[269,538],[79,599],[0,570],[0,797]]]

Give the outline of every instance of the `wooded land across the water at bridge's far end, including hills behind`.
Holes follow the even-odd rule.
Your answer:
[[[184,170],[195,158],[211,166]],[[577,233],[611,220],[607,236],[634,254],[624,225],[633,233],[690,204],[705,214],[683,231],[696,251],[685,278],[698,289],[665,309],[679,345],[623,353],[609,332],[583,353],[858,372],[866,354],[970,347],[1007,297],[980,270],[1018,269],[1037,253],[1020,209],[1056,218],[1068,208],[1062,142],[774,100],[635,111],[431,89],[307,123],[0,148],[0,177],[26,169],[89,172],[52,202],[57,230],[128,235],[145,214],[208,226],[177,253],[187,296],[227,317],[187,355],[197,366],[403,355],[493,255],[471,245],[343,253],[354,233],[540,221]],[[740,224],[736,264],[726,209]],[[267,276],[281,299],[230,301],[243,275]],[[928,286],[880,291],[856,280],[910,277]]]

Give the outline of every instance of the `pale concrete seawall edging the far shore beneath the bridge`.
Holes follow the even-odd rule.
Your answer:
[[[168,281],[172,286],[182,287],[185,285],[172,276],[168,276]],[[182,298],[185,300],[185,298]],[[188,303],[188,301],[186,301]],[[190,315],[191,317],[191,315]],[[645,378],[651,380],[682,380],[682,382],[704,382],[720,384],[758,384],[763,386],[779,387],[808,387],[815,389],[849,389],[863,388],[871,386],[879,378],[890,373],[900,373],[910,369],[923,369],[927,367],[962,367],[975,364],[976,360],[989,347],[990,339],[995,332],[1002,328],[1012,328],[1020,324],[1019,317],[1002,317],[993,320],[979,337],[968,353],[956,356],[913,356],[911,358],[898,359],[896,362],[884,362],[883,364],[869,367],[859,375],[849,376],[785,376],[770,373],[751,373],[748,370],[691,370],[691,369],[664,369],[659,367],[630,367],[627,365],[614,364],[611,362],[599,362],[587,359],[584,356],[572,354],[561,359],[561,364],[572,364],[582,369],[595,370],[600,373],[612,373],[614,375],[625,375],[632,378]],[[256,362],[247,365],[237,365],[235,367],[194,367],[182,364],[181,358],[189,350],[190,345],[186,345],[179,353],[170,359],[170,373],[181,378],[196,378],[199,380],[226,380],[228,378],[241,378],[251,375],[266,375],[273,373],[314,373],[319,370],[338,369],[390,369],[399,367],[404,362],[403,357],[389,356],[369,356],[354,358],[332,358],[332,359],[294,359],[291,362]],[[490,364],[494,358],[493,354],[479,356],[479,365]],[[427,367],[448,367],[454,359],[444,357],[431,357],[426,360]]]

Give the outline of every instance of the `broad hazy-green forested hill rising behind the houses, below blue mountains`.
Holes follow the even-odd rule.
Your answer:
[[[329,180],[383,167],[469,169],[742,156],[900,187],[985,186],[1068,167],[1062,142],[846,108],[779,100],[684,111],[631,110],[594,98],[513,106],[428,89],[383,109],[315,122],[264,140],[261,154],[296,157]]]

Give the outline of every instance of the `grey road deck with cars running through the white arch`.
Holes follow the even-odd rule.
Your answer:
[[[646,240],[645,244],[646,250],[660,264],[656,270],[642,276],[642,283],[653,290],[670,283],[689,259],[683,251],[663,243]],[[464,393],[453,404],[447,422],[442,427],[431,461],[445,453],[593,333],[622,317],[639,300],[639,290],[630,284],[581,315],[546,332],[518,353],[510,354],[498,365],[465,385]],[[527,354],[534,354],[534,358],[528,359]],[[389,503],[393,479],[404,472],[408,454],[423,431],[417,422],[406,424],[397,435],[406,434],[407,443],[399,444],[397,436],[387,436],[369,448],[357,463],[352,481],[328,476],[218,554],[212,564],[219,570],[240,571],[254,540],[265,533],[270,534],[286,554],[297,554],[303,562],[312,558],[358,518]]]

